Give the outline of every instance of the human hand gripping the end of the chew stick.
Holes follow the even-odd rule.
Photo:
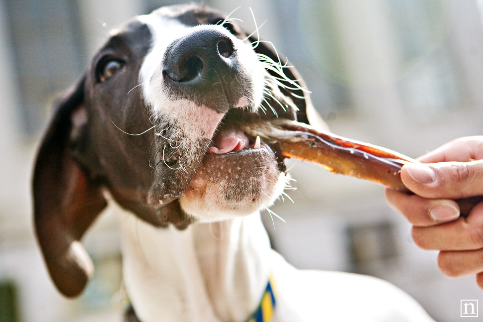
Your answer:
[[[386,188],[389,205],[413,225],[423,249],[440,250],[439,269],[449,277],[476,274],[483,289],[483,202],[465,218],[455,199],[483,195],[483,136],[456,139],[401,169],[415,195]]]

